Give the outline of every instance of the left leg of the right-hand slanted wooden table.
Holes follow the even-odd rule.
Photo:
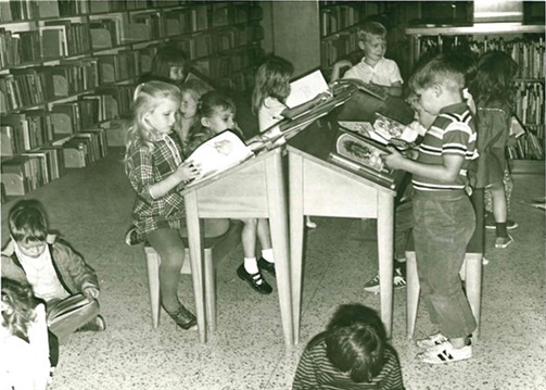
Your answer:
[[[290,262],[292,273],[292,316],[294,324],[294,343],[300,340],[300,320],[302,312],[303,281],[303,158],[289,153],[290,183]]]

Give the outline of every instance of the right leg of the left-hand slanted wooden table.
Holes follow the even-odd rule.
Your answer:
[[[292,320],[292,293],[290,279],[290,260],[288,252],[288,215],[287,196],[282,175],[282,161],[280,153],[265,161],[267,180],[267,203],[271,243],[275,255],[277,273],[277,289],[281,311],[284,343],[291,347],[294,343]]]

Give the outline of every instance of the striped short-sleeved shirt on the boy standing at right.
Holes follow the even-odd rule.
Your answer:
[[[478,158],[474,121],[466,103],[442,109],[419,147],[417,162],[426,165],[442,165],[444,154],[464,158],[459,175],[453,183],[431,179],[414,174],[412,184],[420,191],[464,190],[468,184],[467,169]]]

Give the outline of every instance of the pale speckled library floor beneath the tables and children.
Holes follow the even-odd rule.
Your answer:
[[[395,292],[392,342],[407,389],[546,388],[545,214],[518,203],[544,196],[544,177],[519,175],[515,181],[520,227],[508,249],[487,250],[474,358],[446,366],[416,362],[416,349],[405,338],[405,290]],[[53,390],[290,389],[306,341],[325,327],[338,304],[379,309],[379,295],[363,290],[377,268],[373,229],[355,219],[315,218],[318,228],[307,236],[301,342],[293,350],[284,349],[277,293],[258,295],[236,277],[240,249],[219,265],[218,330],[208,343],[201,344],[195,331],[177,329],[164,313],[158,329],[152,329],[142,248],[123,242],[134,196],[120,154],[112,152],[29,197],[43,202],[51,227],[96,268],[109,326],[102,334],[73,335],[62,347]],[[2,206],[2,241],[11,204]],[[487,234],[487,248],[493,238]],[[179,293],[192,307],[189,275],[182,276]],[[417,336],[431,330],[421,307]]]

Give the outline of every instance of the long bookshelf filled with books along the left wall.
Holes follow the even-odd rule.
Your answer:
[[[0,1],[2,200],[104,156],[165,43],[219,87],[251,89],[262,17],[257,1]]]

